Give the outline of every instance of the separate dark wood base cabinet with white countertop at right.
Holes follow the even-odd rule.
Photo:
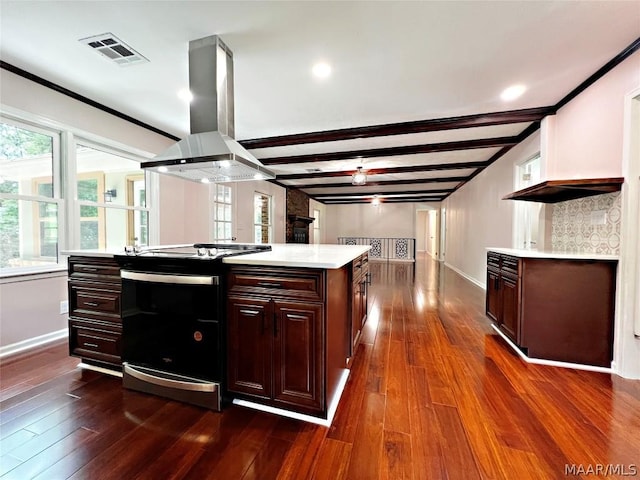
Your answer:
[[[527,360],[608,369],[616,268],[613,255],[488,248],[486,314]]]

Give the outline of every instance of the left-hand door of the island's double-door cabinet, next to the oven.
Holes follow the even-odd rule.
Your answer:
[[[230,297],[227,305],[229,391],[270,398],[273,332],[267,300]]]

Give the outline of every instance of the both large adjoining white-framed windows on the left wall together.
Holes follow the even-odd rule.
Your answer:
[[[61,250],[148,245],[153,175],[140,169],[143,158],[37,122],[0,117],[2,275],[63,266]]]

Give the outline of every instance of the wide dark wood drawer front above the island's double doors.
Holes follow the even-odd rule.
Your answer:
[[[287,269],[237,269],[229,273],[229,293],[322,300],[321,272]]]

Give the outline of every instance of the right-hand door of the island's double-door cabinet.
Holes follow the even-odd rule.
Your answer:
[[[324,407],[322,305],[274,304],[274,400],[321,410]]]

